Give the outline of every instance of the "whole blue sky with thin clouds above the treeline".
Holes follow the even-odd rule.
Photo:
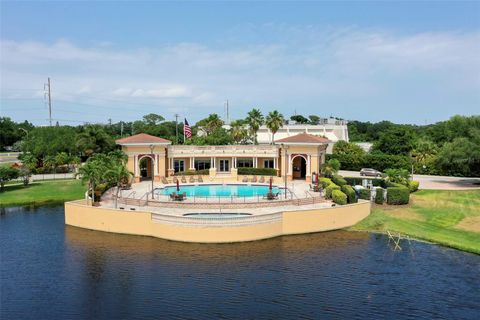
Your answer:
[[[480,114],[480,1],[0,1],[0,116]]]

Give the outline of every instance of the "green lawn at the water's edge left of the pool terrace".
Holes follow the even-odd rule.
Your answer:
[[[85,190],[79,180],[34,182],[27,187],[22,184],[6,185],[5,191],[0,192],[0,206],[62,203],[83,199]]]

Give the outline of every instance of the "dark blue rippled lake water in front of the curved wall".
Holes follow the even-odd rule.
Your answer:
[[[2,209],[0,319],[479,319],[480,257],[335,231],[187,244]]]

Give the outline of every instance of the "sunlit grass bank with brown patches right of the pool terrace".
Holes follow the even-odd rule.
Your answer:
[[[376,205],[352,230],[394,231],[480,254],[480,190],[421,190],[406,206]]]

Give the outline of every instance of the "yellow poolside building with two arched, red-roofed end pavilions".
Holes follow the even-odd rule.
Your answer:
[[[128,169],[135,182],[160,181],[184,171],[208,170],[210,177],[236,178],[238,168],[272,168],[288,180],[312,180],[325,162],[329,140],[300,133],[276,140],[274,144],[194,146],[172,145],[170,140],[148,134],[119,139],[128,155]],[[153,172],[153,173],[152,173]]]

